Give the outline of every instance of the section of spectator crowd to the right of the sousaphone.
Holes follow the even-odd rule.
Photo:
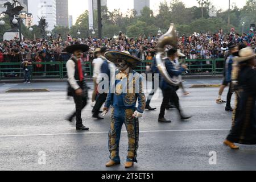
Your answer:
[[[185,59],[218,59],[224,58],[229,50],[229,43],[245,44],[255,48],[256,34],[253,28],[248,34],[241,36],[234,28],[229,34],[224,34],[222,29],[217,34],[201,33],[191,36],[182,36],[179,39],[179,48],[185,54]]]

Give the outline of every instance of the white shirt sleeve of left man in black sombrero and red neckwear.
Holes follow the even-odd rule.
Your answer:
[[[80,86],[77,84],[76,82],[76,78],[75,78],[75,72],[76,72],[76,64],[74,63],[73,60],[68,60],[66,63],[66,68],[67,68],[67,72],[68,72],[68,82],[71,85],[71,87],[74,90],[77,90],[80,88]]]

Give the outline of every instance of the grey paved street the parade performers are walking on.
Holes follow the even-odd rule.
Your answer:
[[[193,118],[179,121],[176,110],[166,113],[172,123],[158,123],[161,94],[154,97],[156,111],[145,111],[140,119],[138,164],[131,170],[256,170],[256,146],[232,151],[222,144],[231,126],[232,113],[215,103],[218,88],[189,88],[193,84],[220,84],[221,80],[187,80],[190,96],[179,92],[181,106]],[[89,83],[92,88],[92,83]],[[50,92],[5,93],[9,89],[49,89]],[[75,105],[67,100],[65,82],[0,84],[1,170],[124,170],[123,165],[105,168],[108,162],[110,116],[92,119],[92,107],[82,113],[88,132],[77,132],[75,123],[64,118]],[[225,90],[224,99],[228,89]],[[90,90],[90,93],[92,90]],[[234,98],[232,100],[234,104]],[[120,145],[126,159],[125,127]],[[46,154],[40,165],[39,152]],[[209,164],[209,152],[217,153],[217,164]]]

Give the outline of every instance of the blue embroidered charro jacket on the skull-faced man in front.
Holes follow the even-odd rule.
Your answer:
[[[115,72],[115,75],[117,75],[119,73],[119,71],[116,71]],[[135,71],[133,71],[133,69],[130,68],[130,72],[129,74],[139,74]],[[142,75],[139,74],[139,93],[135,93],[135,90],[134,89],[134,92],[133,93],[129,93],[129,83],[131,81],[133,81],[133,85],[135,86],[135,78],[132,79],[129,78],[129,76],[127,76],[127,79],[129,80],[129,82],[127,82],[127,93],[122,93],[122,96],[123,96],[123,104],[125,105],[125,107],[136,107],[136,104],[137,104],[137,100],[138,100],[138,107],[137,107],[137,111],[139,113],[143,113],[144,110],[145,110],[145,107],[146,107],[146,97],[143,93],[143,86],[142,86]],[[115,82],[116,83],[116,82]],[[116,86],[116,84],[114,84],[114,86]],[[135,88],[135,87],[134,87]],[[109,89],[109,93],[108,93],[108,97],[106,99],[106,102],[105,102],[105,107],[110,107],[110,106],[113,106],[113,98],[114,98],[114,93],[111,93],[111,90],[112,89]],[[125,88],[123,89],[125,90]]]

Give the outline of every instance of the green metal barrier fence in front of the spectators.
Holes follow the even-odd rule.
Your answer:
[[[222,73],[224,69],[224,59],[205,60],[182,60],[188,65],[190,74],[211,74],[213,76]],[[67,78],[67,68],[65,62],[35,62],[32,64],[31,79],[33,78]],[[91,62],[84,62],[84,72],[87,77],[92,77],[93,66]],[[143,61],[135,68],[135,71],[143,73],[146,66],[151,65],[151,61]],[[20,63],[0,63],[0,78],[22,78],[23,68]]]

